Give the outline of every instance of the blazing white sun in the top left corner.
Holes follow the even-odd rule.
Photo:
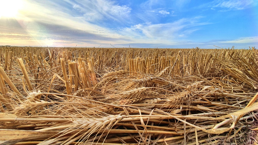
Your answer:
[[[23,5],[23,0],[0,0],[0,18],[15,18]]]

